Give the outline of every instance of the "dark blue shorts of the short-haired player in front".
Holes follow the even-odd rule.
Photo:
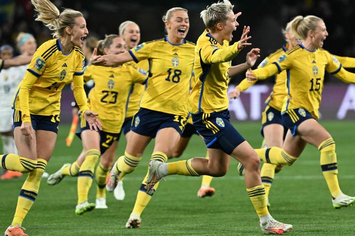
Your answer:
[[[197,132],[202,135],[207,148],[220,149],[227,154],[239,146],[245,139],[230,123],[228,109],[192,114],[192,121]]]

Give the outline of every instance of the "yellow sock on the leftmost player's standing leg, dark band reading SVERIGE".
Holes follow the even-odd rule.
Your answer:
[[[31,209],[34,201],[36,200],[40,180],[42,178],[42,174],[45,172],[46,166],[47,161],[45,159],[38,158],[36,168],[28,173],[27,179],[22,186],[17,200],[17,207],[12,225],[21,226],[23,219],[26,217],[29,209]]]

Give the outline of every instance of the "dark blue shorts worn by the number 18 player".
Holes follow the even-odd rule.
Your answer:
[[[174,115],[161,111],[140,108],[133,116],[131,131],[155,138],[159,130],[164,128],[174,128],[182,135],[187,122],[184,115]]]

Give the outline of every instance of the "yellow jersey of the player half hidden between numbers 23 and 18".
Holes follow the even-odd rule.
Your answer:
[[[136,66],[140,68],[139,70],[141,73],[146,73],[146,77],[148,78],[148,60],[140,61],[136,64]],[[127,104],[126,117],[132,117],[137,113],[137,111],[139,110],[139,102],[141,101],[141,97],[144,93],[144,90],[146,90],[145,84],[135,83],[134,85],[132,85]]]

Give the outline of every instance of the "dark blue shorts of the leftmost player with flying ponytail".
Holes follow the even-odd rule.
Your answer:
[[[20,110],[14,110],[13,119],[14,119],[14,129],[15,127],[21,127],[22,120],[21,120],[22,113]],[[59,115],[35,115],[30,114],[31,116],[31,123],[33,130],[45,130],[45,131],[52,131],[58,134],[58,126],[60,122]]]

